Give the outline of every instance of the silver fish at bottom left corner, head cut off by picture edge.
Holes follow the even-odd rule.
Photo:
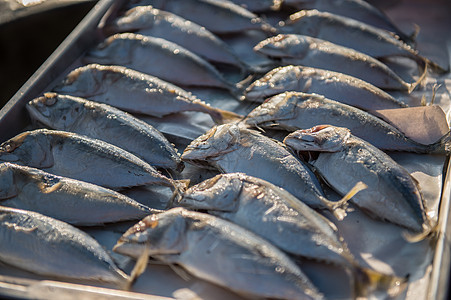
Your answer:
[[[44,215],[0,206],[0,260],[40,275],[124,285],[129,277],[83,231]]]

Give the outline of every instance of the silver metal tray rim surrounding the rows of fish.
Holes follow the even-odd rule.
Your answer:
[[[99,23],[115,14],[125,1],[101,0],[65,39],[47,61],[35,72],[35,74],[22,86],[13,98],[0,110],[0,141],[5,141],[25,130],[29,126],[29,118],[25,110],[25,104],[33,98],[48,91],[49,87],[59,82],[62,77],[73,68],[81,65],[80,57],[83,53],[103,40],[99,30]],[[448,293],[448,281],[450,270],[451,240],[449,220],[451,183],[451,167],[448,163],[443,172],[443,188],[439,207],[440,233],[437,237],[433,262],[429,272],[429,280],[425,298],[446,299]],[[0,268],[2,266],[0,265]],[[19,276],[20,277],[20,276]],[[208,290],[209,288],[206,288]],[[205,288],[204,288],[205,290]],[[222,293],[221,296],[218,293]],[[113,289],[98,288],[86,285],[73,285],[49,280],[36,280],[27,278],[15,278],[0,275],[0,294],[17,298],[58,298],[65,296],[83,296],[90,299],[106,297],[108,299],[143,299],[160,298],[145,294],[122,292]],[[207,296],[205,296],[207,295]],[[190,293],[172,295],[173,297],[192,297]],[[198,295],[201,296],[202,295]],[[227,291],[211,288],[204,293],[206,298],[227,299]]]

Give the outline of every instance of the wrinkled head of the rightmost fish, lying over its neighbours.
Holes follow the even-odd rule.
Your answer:
[[[290,133],[283,142],[295,151],[338,152],[350,136],[347,128],[319,125]]]

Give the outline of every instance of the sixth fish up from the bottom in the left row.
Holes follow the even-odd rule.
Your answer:
[[[162,38],[118,33],[88,51],[83,59],[88,63],[121,65],[176,85],[236,91],[235,85],[228,82],[213,65]]]

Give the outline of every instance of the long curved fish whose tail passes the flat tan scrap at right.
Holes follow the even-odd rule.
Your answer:
[[[288,132],[324,123],[346,127],[354,136],[385,151],[447,154],[451,139],[447,133],[433,144],[421,144],[370,113],[321,95],[301,92],[285,92],[268,98],[243,122],[251,127]]]

